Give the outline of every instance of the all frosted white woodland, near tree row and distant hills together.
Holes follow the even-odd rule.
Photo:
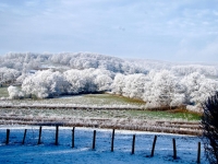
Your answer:
[[[149,108],[191,105],[194,109],[218,91],[218,67],[213,65],[124,60],[88,52],[10,52],[0,61],[0,84],[22,84],[21,91],[9,87],[10,98],[111,92],[143,99]]]

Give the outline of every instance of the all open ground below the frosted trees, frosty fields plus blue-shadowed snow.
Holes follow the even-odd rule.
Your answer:
[[[0,94],[7,96],[7,87],[1,87]],[[196,137],[201,133],[198,114],[181,109],[147,110],[142,101],[111,94],[8,99],[1,101],[0,105],[0,163],[194,164],[197,161],[197,143],[201,142]],[[57,125],[59,145],[55,145]],[[38,145],[39,126],[43,132]],[[75,145],[72,149],[73,127]],[[10,129],[9,144],[5,144],[7,129]],[[27,132],[22,145],[24,129]],[[113,152],[110,150],[112,129],[116,129]],[[94,130],[97,132],[93,150]],[[155,136],[157,143],[150,157]],[[172,139],[177,141],[177,159],[173,159]],[[201,162],[207,164],[203,145],[201,149]]]

